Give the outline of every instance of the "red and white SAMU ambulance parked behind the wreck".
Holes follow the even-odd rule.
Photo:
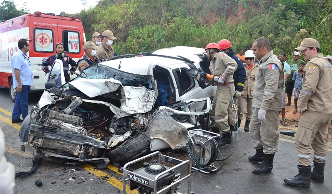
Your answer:
[[[55,54],[55,44],[62,42],[64,53],[78,61],[84,54],[85,34],[83,25],[76,16],[64,16],[51,13],[26,14],[0,23],[0,86],[10,88],[9,94],[15,102],[13,75],[10,60],[18,51],[21,38],[29,40],[31,45],[27,55],[32,63],[33,85],[31,91],[41,91],[47,76],[42,71],[43,59]]]

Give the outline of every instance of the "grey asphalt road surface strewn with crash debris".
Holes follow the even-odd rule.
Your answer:
[[[9,98],[9,89],[0,87],[0,127],[5,133],[7,160],[14,164],[17,172],[29,169],[32,152],[21,151],[19,138],[20,124],[11,123],[14,103]],[[41,93],[30,93],[29,107],[36,105]],[[219,150],[227,156],[233,144]],[[249,133],[240,129],[233,155],[225,161],[221,170],[215,174],[192,173],[191,190],[194,193],[332,193],[331,148],[325,165],[325,182],[311,182],[309,189],[284,184],[283,179],[297,173],[297,152],[292,140],[279,140],[271,173],[255,174],[252,170],[257,164],[248,162],[248,156],[255,153]],[[187,154],[170,156],[184,160]],[[123,193],[122,174],[113,164],[103,170],[94,169],[93,164],[67,165],[43,160],[31,175],[16,178],[15,193]],[[55,176],[56,172],[60,176]],[[57,174],[57,175],[59,175]],[[42,180],[42,187],[35,185]],[[180,192],[186,191],[186,183],[180,185]],[[127,189],[128,191],[128,189]],[[1,193],[1,192],[0,192]],[[128,193],[137,193],[130,191]]]

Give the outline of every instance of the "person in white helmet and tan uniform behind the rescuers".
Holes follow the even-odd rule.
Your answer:
[[[242,114],[247,106],[247,114],[246,114],[246,123],[244,124],[244,131],[249,132],[249,124],[252,117],[252,98],[254,91],[254,82],[258,70],[258,64],[255,63],[255,55],[253,50],[247,50],[244,53],[244,57],[246,59],[246,63],[244,64],[244,69],[247,74],[247,80],[244,83],[244,88],[241,92],[241,97],[238,100],[239,111],[237,112],[239,123],[242,120]]]

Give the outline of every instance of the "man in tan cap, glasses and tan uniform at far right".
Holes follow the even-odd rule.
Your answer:
[[[328,127],[332,120],[332,66],[319,53],[319,48],[319,43],[313,38],[304,38],[300,46],[295,48],[295,51],[301,51],[308,63],[303,69],[303,85],[297,101],[298,110],[303,112],[295,137],[299,171],[293,178],[284,179],[284,182],[304,188],[310,187],[310,178],[324,182]]]

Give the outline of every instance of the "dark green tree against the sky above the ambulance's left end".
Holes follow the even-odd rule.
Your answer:
[[[17,10],[14,2],[3,1],[0,5],[0,22],[16,18],[27,13],[26,8]]]

